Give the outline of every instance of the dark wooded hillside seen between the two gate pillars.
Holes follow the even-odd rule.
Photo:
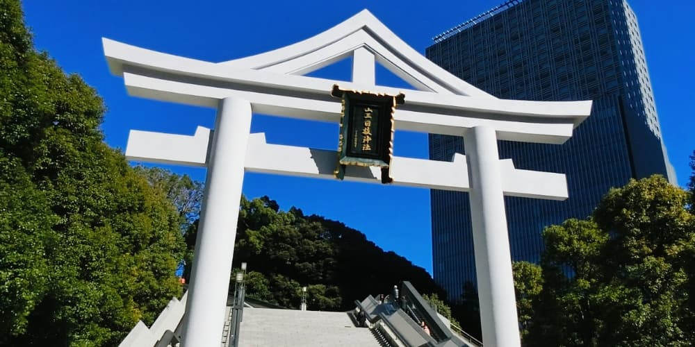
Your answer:
[[[389,294],[402,280],[445,298],[425,269],[382,251],[363,233],[297,208],[281,211],[267,196],[242,198],[235,267],[241,262],[248,264],[247,295],[284,307],[299,307],[306,286],[310,310],[347,310],[369,294]]]

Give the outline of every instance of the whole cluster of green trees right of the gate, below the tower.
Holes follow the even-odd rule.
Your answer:
[[[517,264],[527,346],[693,346],[695,217],[660,176],[611,189],[586,220],[543,231],[540,267]]]

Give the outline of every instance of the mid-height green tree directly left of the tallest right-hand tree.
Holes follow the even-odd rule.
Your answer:
[[[539,305],[534,305],[530,346],[596,345],[598,307],[593,301],[607,239],[591,219],[568,219],[543,230],[543,289],[537,296]]]

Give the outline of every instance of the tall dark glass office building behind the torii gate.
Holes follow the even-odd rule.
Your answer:
[[[676,183],[662,141],[635,13],[623,0],[507,1],[434,38],[427,57],[502,99],[594,101],[562,145],[500,142],[519,169],[566,174],[569,199],[505,197],[514,260],[538,262],[541,231],[591,214],[610,187],[652,174]],[[464,153],[430,135],[430,158]],[[434,279],[452,299],[475,283],[468,195],[432,190]]]

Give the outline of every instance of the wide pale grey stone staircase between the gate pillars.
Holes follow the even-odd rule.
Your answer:
[[[245,308],[239,347],[379,347],[368,328],[356,328],[345,312]]]

